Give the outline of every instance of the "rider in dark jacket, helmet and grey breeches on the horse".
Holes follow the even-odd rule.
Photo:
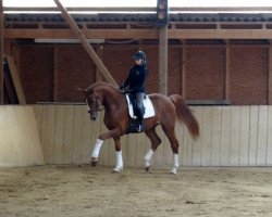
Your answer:
[[[134,94],[137,100],[137,113],[139,125],[137,126],[137,130],[143,130],[144,124],[144,114],[145,108],[143,104],[144,97],[146,94],[146,79],[148,76],[147,69],[147,56],[143,51],[137,51],[134,56],[135,65],[131,68],[128,76],[122,86],[120,86],[120,90],[126,90]]]

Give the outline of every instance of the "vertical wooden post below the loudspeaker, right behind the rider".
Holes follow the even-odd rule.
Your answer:
[[[159,27],[159,92],[168,94],[168,26]]]

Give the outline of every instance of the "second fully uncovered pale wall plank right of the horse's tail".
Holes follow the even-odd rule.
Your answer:
[[[222,126],[222,107],[212,107],[211,119],[211,166],[220,166],[221,154],[221,126]]]

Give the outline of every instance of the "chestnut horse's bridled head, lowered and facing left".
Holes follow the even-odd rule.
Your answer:
[[[88,105],[88,113],[90,115],[91,120],[97,120],[97,115],[99,111],[103,110],[101,98],[94,92],[94,90],[81,89],[78,90],[85,95],[86,103]]]

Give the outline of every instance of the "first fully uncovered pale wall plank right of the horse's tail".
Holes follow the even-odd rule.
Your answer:
[[[211,166],[212,107],[203,107],[201,166]]]

